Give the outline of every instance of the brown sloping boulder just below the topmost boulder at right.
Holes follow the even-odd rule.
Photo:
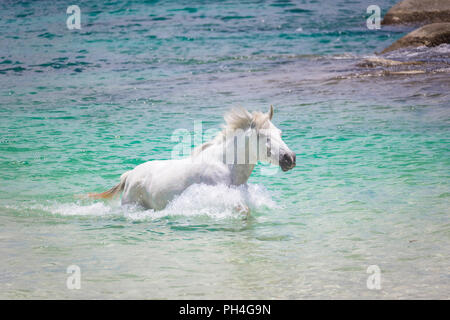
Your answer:
[[[442,43],[450,43],[450,22],[427,24],[426,26],[408,33],[406,36],[384,49],[381,53],[405,47],[434,47]]]

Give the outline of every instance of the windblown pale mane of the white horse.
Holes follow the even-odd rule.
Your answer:
[[[248,112],[242,107],[233,108],[223,117],[225,125],[219,134],[212,140],[203,143],[192,151],[192,156],[195,156],[212,146],[216,141],[221,140],[224,136],[233,133],[236,130],[247,130],[248,128],[255,128],[256,130],[267,127],[269,116],[260,111]]]

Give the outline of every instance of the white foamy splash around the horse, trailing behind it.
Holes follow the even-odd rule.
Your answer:
[[[131,220],[155,219],[165,216],[209,216],[215,219],[240,217],[236,207],[248,206],[252,210],[261,207],[274,208],[267,189],[260,185],[228,187],[225,185],[192,185],[172,200],[164,210],[146,210],[139,206],[121,206],[120,200],[113,202],[78,201],[71,203],[51,202],[28,205],[27,208],[62,216],[109,216],[121,215]]]

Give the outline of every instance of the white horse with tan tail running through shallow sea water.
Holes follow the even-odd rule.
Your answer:
[[[224,130],[189,157],[142,163],[122,174],[115,187],[88,196],[112,198],[123,191],[122,204],[160,210],[192,184],[246,184],[258,161],[288,171],[295,167],[295,153],[281,139],[272,116],[272,106],[268,113],[232,109],[225,114]]]

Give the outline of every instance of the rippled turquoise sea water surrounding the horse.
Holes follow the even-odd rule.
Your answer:
[[[73,4],[81,30],[65,1],[0,4],[1,298],[449,298],[448,70],[357,66],[409,29],[368,30],[362,0]],[[159,212],[74,196],[270,104],[287,173]]]

